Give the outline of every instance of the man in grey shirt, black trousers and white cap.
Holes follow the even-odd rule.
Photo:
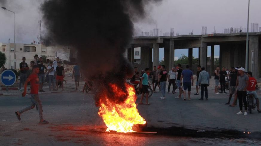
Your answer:
[[[248,76],[245,74],[245,69],[240,67],[239,69],[236,68],[239,72],[239,76],[236,79],[236,86],[237,86],[237,97],[239,100],[239,109],[240,111],[237,113],[237,115],[242,115],[242,99],[244,102],[244,108],[245,112],[244,115],[248,115],[247,113],[247,101],[246,101],[246,96],[247,96],[247,87],[248,87]]]

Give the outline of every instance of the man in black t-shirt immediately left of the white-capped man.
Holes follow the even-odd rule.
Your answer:
[[[230,100],[233,96],[233,94],[236,91],[236,78],[237,78],[237,70],[231,67],[233,70],[229,73],[229,80],[230,80],[230,93],[229,93],[229,99],[226,105],[230,104]]]

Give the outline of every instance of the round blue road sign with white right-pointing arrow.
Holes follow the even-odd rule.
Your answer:
[[[4,86],[12,86],[16,82],[16,74],[12,70],[5,70],[1,74],[1,82]]]

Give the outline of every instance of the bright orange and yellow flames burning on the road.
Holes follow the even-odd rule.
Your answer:
[[[146,124],[146,121],[138,112],[136,108],[135,101],[137,96],[133,86],[125,84],[128,91],[127,99],[120,104],[109,101],[107,96],[100,99],[100,110],[98,115],[103,118],[106,126],[108,127],[106,131],[116,131],[116,132],[134,132],[132,126],[135,124]],[[120,95],[125,94],[116,85],[111,85],[115,96],[120,97]]]

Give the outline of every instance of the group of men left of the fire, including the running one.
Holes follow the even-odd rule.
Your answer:
[[[22,62],[20,63],[20,83],[19,83],[19,91],[22,91],[22,84],[24,86],[24,91],[22,93],[22,97],[25,97],[27,86],[30,83],[30,99],[31,105],[28,107],[16,111],[16,117],[20,121],[21,114],[25,111],[33,109],[36,105],[39,112],[39,124],[48,124],[49,122],[43,119],[42,114],[42,102],[39,98],[38,92],[45,92],[43,90],[43,84],[45,83],[45,79],[49,84],[49,90],[58,90],[59,85],[63,89],[63,81],[65,77],[65,71],[63,66],[61,66],[61,62],[59,61],[59,57],[56,60],[51,61],[46,59],[47,66],[44,65],[44,61],[42,57],[38,58],[38,55],[33,57],[33,60],[30,61],[30,68],[28,64],[25,62],[26,58],[22,58]],[[28,76],[29,74],[29,76]],[[76,89],[79,87],[79,79],[80,79],[80,68],[76,64],[73,69],[73,77],[75,79]]]

